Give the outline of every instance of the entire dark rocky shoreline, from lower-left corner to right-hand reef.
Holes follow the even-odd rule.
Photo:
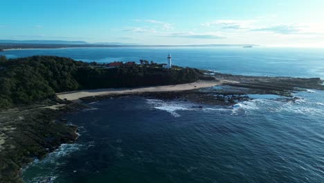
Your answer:
[[[141,92],[88,96],[80,98],[85,103],[105,98],[123,96],[143,96],[163,100],[190,101],[193,107],[202,105],[232,106],[241,101],[249,101],[249,94],[276,94],[285,100],[295,101],[294,92],[305,89],[324,90],[320,78],[285,78],[235,76],[222,73],[207,73],[222,85],[171,92]],[[197,106],[196,106],[197,105]],[[78,127],[68,125],[62,116],[87,107],[52,98],[44,103],[20,106],[0,112],[0,182],[22,182],[21,168],[42,159],[62,143],[73,143],[78,139]]]

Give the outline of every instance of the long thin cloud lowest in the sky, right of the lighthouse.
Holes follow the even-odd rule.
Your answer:
[[[169,33],[166,35],[161,35],[162,37],[183,37],[183,38],[192,38],[192,39],[224,39],[223,35],[219,35],[218,33],[192,33],[192,32],[184,32],[184,33]]]

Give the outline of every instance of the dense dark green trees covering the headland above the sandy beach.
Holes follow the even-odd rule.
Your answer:
[[[175,85],[204,78],[198,69],[162,64],[123,64],[105,68],[55,56],[33,56],[7,60],[0,57],[0,108],[29,104],[55,96],[55,92],[108,87]]]

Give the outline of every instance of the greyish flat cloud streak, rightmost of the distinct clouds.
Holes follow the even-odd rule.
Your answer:
[[[251,31],[264,31],[278,34],[298,34],[300,33],[301,27],[294,25],[278,25],[278,26],[269,26],[263,28],[251,29]]]

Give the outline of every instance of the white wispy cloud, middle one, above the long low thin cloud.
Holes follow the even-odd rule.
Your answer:
[[[222,29],[249,29],[251,28],[251,24],[253,24],[255,20],[230,20],[230,19],[222,19],[206,22],[201,24],[201,26],[216,26]]]

